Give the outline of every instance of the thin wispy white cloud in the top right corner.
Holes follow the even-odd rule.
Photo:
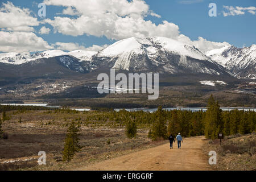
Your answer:
[[[223,11],[224,16],[236,16],[236,15],[243,15],[247,11],[250,14],[255,15],[256,7],[250,6],[250,7],[240,7],[240,6],[223,6],[224,9],[228,10],[228,12]]]

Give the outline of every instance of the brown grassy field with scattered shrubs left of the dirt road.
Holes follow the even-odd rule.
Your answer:
[[[96,111],[27,110],[8,111],[6,114],[10,120],[3,122],[2,129],[8,134],[8,139],[0,139],[0,170],[72,169],[164,143],[151,142],[147,138],[147,128],[138,129],[137,137],[129,139],[122,123],[98,121],[101,112]],[[84,148],[70,163],[63,163],[60,160],[65,133],[72,120],[81,125],[80,143]],[[46,166],[37,163],[39,151],[46,151]]]

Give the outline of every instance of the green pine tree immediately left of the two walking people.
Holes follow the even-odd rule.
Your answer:
[[[156,121],[153,123],[151,134],[148,135],[152,140],[157,140],[159,138],[166,139],[168,138],[167,126],[166,126],[166,117],[162,106],[158,107],[156,111]]]

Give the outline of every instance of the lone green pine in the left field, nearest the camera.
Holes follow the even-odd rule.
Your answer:
[[[79,144],[79,128],[75,122],[72,121],[68,127],[68,132],[65,138],[65,145],[63,151],[63,161],[70,161],[77,151],[80,151],[82,146]]]

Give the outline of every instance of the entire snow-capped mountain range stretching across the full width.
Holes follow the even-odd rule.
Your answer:
[[[119,40],[101,51],[48,50],[41,53],[0,53],[0,77],[36,77],[88,73],[115,68],[130,72],[204,73],[255,79],[256,45],[227,46],[206,53],[163,37]]]

